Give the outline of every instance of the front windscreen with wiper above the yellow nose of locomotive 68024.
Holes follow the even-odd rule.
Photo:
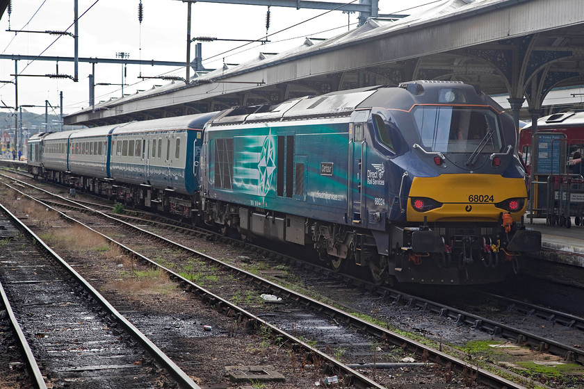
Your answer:
[[[426,151],[482,154],[501,151],[503,139],[496,114],[481,108],[419,106],[416,127]]]

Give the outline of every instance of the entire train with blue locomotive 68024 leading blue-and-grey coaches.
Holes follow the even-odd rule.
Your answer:
[[[541,247],[522,224],[512,118],[460,82],[60,134],[31,138],[33,174],[244,239],[308,245],[334,270],[362,267],[378,283],[502,281]],[[60,167],[45,165],[49,151]]]

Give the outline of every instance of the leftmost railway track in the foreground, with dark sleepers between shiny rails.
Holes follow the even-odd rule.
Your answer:
[[[31,386],[199,388],[8,209],[0,212],[4,312]]]

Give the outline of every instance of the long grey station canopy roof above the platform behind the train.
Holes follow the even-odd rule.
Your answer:
[[[189,83],[112,99],[65,117],[89,126],[275,104],[307,94],[453,80],[532,112],[554,88],[584,85],[584,1],[443,0],[420,15],[370,18],[328,40],[198,72]],[[164,97],[164,98],[161,98]],[[578,98],[578,101],[581,99]]]

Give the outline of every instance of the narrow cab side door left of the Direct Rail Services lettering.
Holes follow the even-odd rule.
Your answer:
[[[348,218],[353,224],[361,224],[364,212],[364,152],[365,143],[365,122],[367,113],[358,113],[355,119],[362,122],[350,123],[352,131],[349,131],[349,174],[348,174]]]

